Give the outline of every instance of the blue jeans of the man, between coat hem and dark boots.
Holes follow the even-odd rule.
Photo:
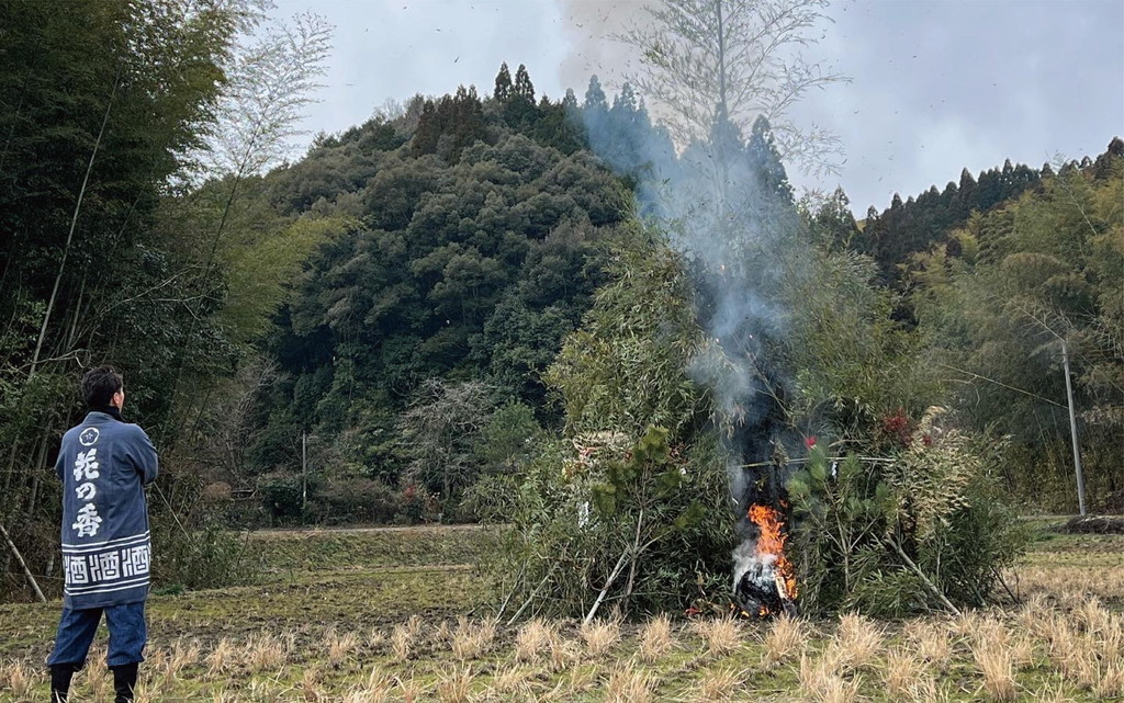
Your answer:
[[[144,661],[148,629],[144,619],[144,601],[139,601],[89,610],[64,608],[55,636],[55,649],[47,665],[73,664],[75,669],[81,668],[98,632],[101,613],[106,613],[109,627],[109,666]]]

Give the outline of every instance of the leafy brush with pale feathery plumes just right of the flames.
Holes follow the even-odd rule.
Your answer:
[[[942,427],[931,409],[879,463],[812,449],[789,482],[805,609],[898,617],[982,605],[1025,544],[990,473],[997,442]]]

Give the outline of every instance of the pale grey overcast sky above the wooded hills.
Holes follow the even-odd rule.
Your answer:
[[[335,25],[325,88],[306,128],[339,131],[388,99],[491,91],[524,63],[540,94],[614,83],[629,54],[605,37],[640,0],[278,0]],[[1005,158],[1041,166],[1096,155],[1124,134],[1124,0],[840,0],[807,51],[851,76],[794,112],[839,134],[837,177],[860,217]],[[617,79],[619,80],[619,79]],[[309,136],[310,138],[310,136]]]

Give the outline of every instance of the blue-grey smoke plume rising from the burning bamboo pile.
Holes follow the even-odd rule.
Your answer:
[[[566,7],[596,19],[601,31],[620,21],[600,3],[572,0]],[[627,86],[611,107],[608,98],[598,103],[598,93],[593,85],[582,110],[590,144],[634,180],[638,211],[682,255],[698,322],[711,340],[686,371],[710,390],[723,420],[731,502],[745,540],[734,555],[735,575],[752,572],[768,583],[772,564],[755,556],[756,528],[745,515],[751,503],[780,504],[786,447],[795,441],[787,430],[792,374],[781,360],[788,316],[780,301],[783,282],[803,272],[794,256],[799,218],[785,168],[763,119],[743,135],[719,111],[708,139],[683,144],[651,125],[642,97]]]

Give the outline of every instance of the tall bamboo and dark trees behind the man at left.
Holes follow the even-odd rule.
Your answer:
[[[223,175],[202,164],[230,136],[219,115],[243,88],[233,67],[255,7],[0,2],[0,520],[52,579],[51,467],[82,410],[81,371],[106,362],[162,450],[154,509],[181,513],[162,573],[193,569],[176,554],[218,554],[192,536],[202,478],[180,454],[217,450],[209,410],[236,394],[232,372],[254,356],[281,282],[338,229],[252,213],[228,181],[189,188]],[[2,593],[22,582],[9,564],[6,549]]]

